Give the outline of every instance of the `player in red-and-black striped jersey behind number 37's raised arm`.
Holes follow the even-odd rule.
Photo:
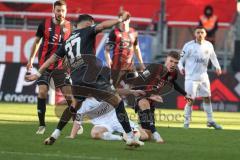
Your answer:
[[[140,70],[143,71],[145,68],[138,42],[138,32],[129,25],[130,18],[114,28],[106,41],[105,59],[107,66],[112,70],[113,85],[116,87],[128,72],[134,70],[134,54],[139,61]],[[112,58],[110,57],[111,50],[113,52]]]

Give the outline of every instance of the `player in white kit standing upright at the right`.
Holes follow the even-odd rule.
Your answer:
[[[195,99],[203,98],[203,108],[207,114],[207,126],[215,129],[222,129],[216,124],[212,116],[211,90],[207,74],[209,60],[216,68],[217,75],[221,75],[221,67],[218,63],[217,56],[214,52],[211,42],[206,41],[206,30],[203,27],[195,29],[195,40],[186,43],[182,49],[182,57],[178,67],[180,73],[185,75],[185,91],[188,96]],[[191,120],[193,102],[188,102],[184,109],[184,128],[189,128]]]

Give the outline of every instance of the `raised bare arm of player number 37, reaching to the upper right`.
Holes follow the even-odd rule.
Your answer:
[[[97,32],[100,32],[104,29],[107,29],[107,28],[110,28],[118,23],[121,23],[121,22],[124,22],[125,20],[127,20],[128,18],[130,17],[130,13],[127,12],[127,11],[124,11],[122,16],[116,20],[106,20],[106,21],[103,21],[102,23],[100,24],[97,24],[96,25],[96,31]]]

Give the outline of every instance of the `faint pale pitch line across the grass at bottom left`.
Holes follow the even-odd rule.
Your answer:
[[[92,157],[92,156],[81,156],[81,155],[60,155],[60,154],[48,154],[48,153],[31,153],[31,152],[11,152],[11,151],[0,151],[0,154],[14,154],[22,156],[39,156],[39,157],[58,157],[64,159],[88,159],[88,160],[118,160],[117,158],[105,158],[105,157]]]

